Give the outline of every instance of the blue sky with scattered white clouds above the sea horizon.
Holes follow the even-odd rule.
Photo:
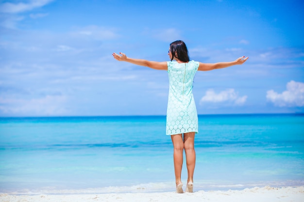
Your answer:
[[[113,59],[249,60],[198,72],[199,114],[304,112],[301,0],[2,0],[0,116],[165,115],[169,79]]]

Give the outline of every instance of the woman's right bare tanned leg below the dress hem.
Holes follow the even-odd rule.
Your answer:
[[[193,192],[193,173],[194,173],[195,158],[196,158],[195,150],[194,150],[194,136],[195,136],[195,132],[184,134],[184,148],[186,153],[186,163],[187,163],[187,171],[188,171],[187,189],[189,192]]]

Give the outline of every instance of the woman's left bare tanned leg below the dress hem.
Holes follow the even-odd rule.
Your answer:
[[[183,167],[184,141],[182,134],[171,135],[171,140],[174,147],[173,159],[174,159],[175,182],[176,182],[176,186],[178,186],[182,183],[181,174]]]

